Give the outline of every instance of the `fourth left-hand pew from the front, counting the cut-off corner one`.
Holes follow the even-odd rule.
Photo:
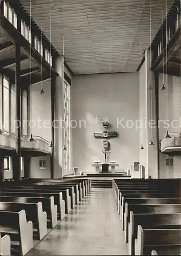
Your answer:
[[[50,198],[33,198],[33,197],[6,197],[0,196],[1,202],[12,202],[12,203],[29,203],[36,204],[42,203],[43,211],[47,212],[47,227],[54,228],[57,225],[57,205],[54,203],[54,197]],[[50,224],[50,225],[49,225]]]

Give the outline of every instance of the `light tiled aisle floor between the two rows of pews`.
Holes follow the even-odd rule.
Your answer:
[[[28,255],[128,255],[111,191],[92,188]]]

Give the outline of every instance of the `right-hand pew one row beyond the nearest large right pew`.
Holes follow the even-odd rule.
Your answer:
[[[134,255],[134,240],[137,239],[139,225],[141,225],[143,229],[181,228],[181,213],[133,214],[133,212],[130,211],[130,221],[128,225],[128,250],[130,255]]]

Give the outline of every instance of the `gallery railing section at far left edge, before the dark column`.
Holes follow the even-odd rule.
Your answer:
[[[15,150],[16,136],[8,131],[3,130],[2,133],[0,133],[0,148]]]

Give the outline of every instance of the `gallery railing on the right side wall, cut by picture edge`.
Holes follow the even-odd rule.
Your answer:
[[[169,133],[171,138],[161,140],[161,152],[181,151],[181,132]]]

